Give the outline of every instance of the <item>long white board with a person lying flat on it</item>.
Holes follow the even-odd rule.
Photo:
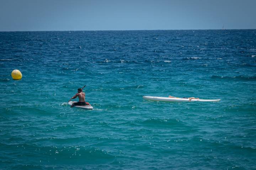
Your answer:
[[[188,98],[170,98],[170,97],[153,97],[153,96],[143,96],[145,100],[159,101],[159,102],[188,102]],[[191,102],[219,102],[217,100],[205,100],[205,99],[192,99]]]

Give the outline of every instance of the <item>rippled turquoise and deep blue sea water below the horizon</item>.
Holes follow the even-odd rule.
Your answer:
[[[256,169],[256,30],[0,32],[0,69],[0,169]]]

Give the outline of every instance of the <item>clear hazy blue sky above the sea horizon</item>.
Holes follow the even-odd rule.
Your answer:
[[[0,31],[256,29],[256,0],[0,0]]]

